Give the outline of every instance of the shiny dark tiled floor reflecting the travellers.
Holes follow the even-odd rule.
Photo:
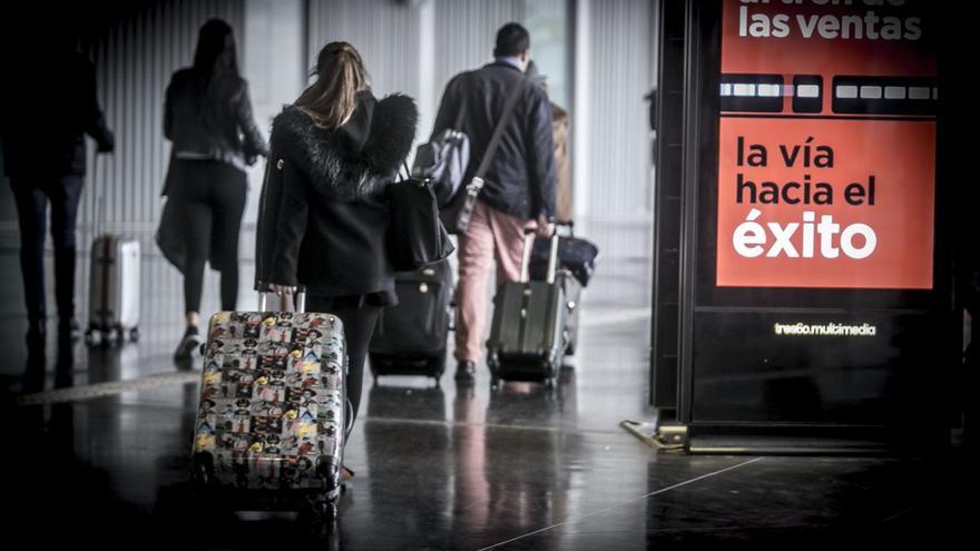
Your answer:
[[[17,281],[14,254],[2,256],[0,269]],[[179,289],[167,282],[144,285],[146,304],[178,311]],[[654,416],[646,405],[649,318],[629,306],[630,296],[646,295],[628,278],[595,284],[620,286],[596,293],[620,302],[586,297],[580,351],[555,387],[491,390],[486,370],[470,388],[457,388],[451,376],[439,386],[413,377],[365,384],[346,457],[356,478],[330,533],[296,515],[222,513],[188,485],[197,383],[196,366],[170,361],[177,315],[149,313],[138,344],[58,350],[50,342],[45,357],[29,358],[19,295],[3,292],[9,440],[0,519],[4,539],[16,532],[21,542],[4,548],[976,544],[977,463],[959,449],[904,459],[686,456],[657,453],[624,432],[621,420]],[[26,368],[45,373],[31,381]],[[11,405],[28,386],[47,388],[41,399],[55,403]]]

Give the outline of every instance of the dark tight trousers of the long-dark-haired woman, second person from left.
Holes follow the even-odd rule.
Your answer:
[[[209,160],[175,160],[169,199],[182,213],[187,239],[184,268],[185,312],[200,312],[204,268],[222,273],[222,309],[235,309],[238,298],[238,233],[248,188],[245,173]]]

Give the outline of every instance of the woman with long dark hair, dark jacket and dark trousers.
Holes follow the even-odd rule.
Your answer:
[[[187,331],[175,357],[186,360],[200,344],[198,312],[208,259],[222,273],[222,309],[235,309],[245,170],[267,155],[252,118],[248,86],[238,76],[228,23],[212,19],[200,28],[194,66],[174,73],[166,101],[164,135],[174,147],[160,247],[184,274]]]

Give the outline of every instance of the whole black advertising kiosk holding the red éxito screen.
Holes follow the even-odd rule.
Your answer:
[[[895,424],[939,394],[962,333],[938,224],[929,2],[695,12],[706,116],[680,410],[695,424]]]

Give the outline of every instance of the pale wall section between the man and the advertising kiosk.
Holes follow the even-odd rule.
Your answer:
[[[576,2],[576,229],[597,242],[598,269],[615,279],[590,289],[590,302],[649,301],[653,178],[644,96],[656,76],[655,7],[654,0]]]

